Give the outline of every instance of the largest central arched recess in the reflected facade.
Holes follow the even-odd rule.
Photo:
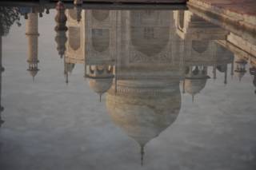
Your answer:
[[[166,13],[165,21],[170,21],[170,13],[157,10],[133,10],[130,12],[130,41],[134,48],[146,56],[154,56],[169,42],[170,25],[161,22],[161,13]]]

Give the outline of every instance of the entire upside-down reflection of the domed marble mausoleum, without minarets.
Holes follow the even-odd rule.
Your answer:
[[[215,78],[216,69],[226,75],[233,63],[214,42],[228,33],[187,12],[82,10],[80,22],[77,14],[66,12],[66,63],[85,63],[90,88],[107,92],[110,117],[140,144],[142,160],[146,143],[178,117],[180,81],[194,97],[210,78],[207,67]]]

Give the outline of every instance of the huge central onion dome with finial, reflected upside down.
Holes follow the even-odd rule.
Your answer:
[[[114,124],[144,146],[174,123],[181,109],[179,80],[118,80],[106,95]]]

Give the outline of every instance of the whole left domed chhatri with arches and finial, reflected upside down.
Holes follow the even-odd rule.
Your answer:
[[[86,77],[88,78],[87,80],[89,81],[90,89],[93,89],[95,93],[98,93],[101,101],[102,94],[106,93],[113,83],[113,66],[88,65],[88,69]]]

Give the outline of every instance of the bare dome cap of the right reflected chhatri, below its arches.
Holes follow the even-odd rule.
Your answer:
[[[186,93],[190,93],[191,95],[194,95],[196,93],[200,93],[202,89],[206,86],[206,81],[209,77],[205,78],[197,78],[197,79],[185,79],[185,91]]]

